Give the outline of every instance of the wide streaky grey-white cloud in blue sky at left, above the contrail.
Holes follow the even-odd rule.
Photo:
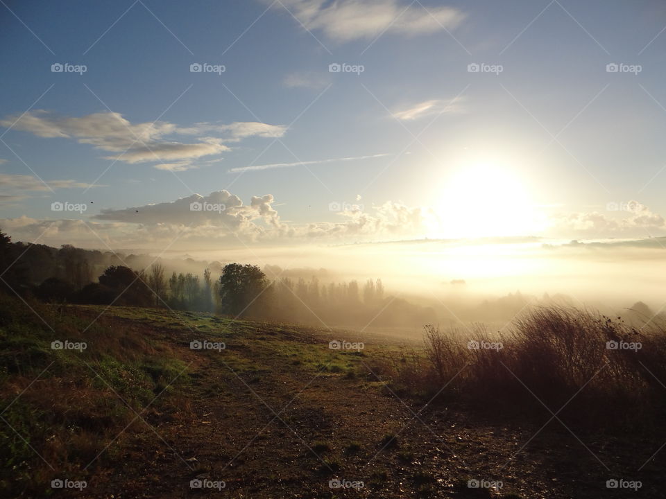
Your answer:
[[[23,116],[7,116],[0,125],[15,130],[31,132],[37,137],[74,139],[79,143],[90,144],[97,149],[118,153],[106,156],[135,164],[146,161],[180,162],[185,168],[186,160],[217,155],[230,150],[225,143],[237,142],[249,137],[282,137],[286,132],[283,125],[269,125],[257,122],[236,122],[229,125],[196,123],[181,128],[174,123],[130,123],[116,112],[99,112],[87,116],[56,116],[44,110],[27,112]],[[210,137],[207,134],[218,134]],[[199,135],[195,143],[167,140],[173,135]]]

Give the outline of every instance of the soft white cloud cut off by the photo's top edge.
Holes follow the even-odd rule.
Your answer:
[[[452,30],[465,18],[456,8],[426,10],[397,0],[282,0],[282,3],[305,28],[322,31],[339,42],[372,40],[382,33],[423,35]]]

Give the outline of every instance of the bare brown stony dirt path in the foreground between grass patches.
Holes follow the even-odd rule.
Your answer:
[[[556,421],[531,439],[539,424],[490,425],[443,407],[415,418],[421,407],[368,383],[371,374],[313,373],[280,356],[253,358],[242,343],[194,352],[183,338],[191,385],[178,410],[148,411],[154,432],[142,421],[130,427],[117,469],[100,470],[83,497],[596,499],[613,497],[613,473],[625,476],[619,443],[581,443]],[[233,369],[241,360],[252,369]],[[334,479],[364,487],[331,489]],[[470,489],[470,479],[503,487]],[[208,482],[191,489],[190,480]]]

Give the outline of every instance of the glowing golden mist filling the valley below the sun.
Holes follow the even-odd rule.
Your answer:
[[[275,265],[274,275],[322,281],[384,281],[391,292],[434,305],[473,306],[520,292],[560,295],[570,304],[604,310],[643,301],[664,304],[666,240],[416,240],[291,248],[255,247],[187,252],[196,260]],[[176,256],[176,255],[174,255]],[[178,255],[177,257],[181,257]],[[294,268],[296,267],[296,268]],[[441,305],[441,303],[440,303]]]

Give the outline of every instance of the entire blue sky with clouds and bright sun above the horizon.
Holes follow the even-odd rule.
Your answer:
[[[0,229],[666,235],[666,3],[0,1]]]

